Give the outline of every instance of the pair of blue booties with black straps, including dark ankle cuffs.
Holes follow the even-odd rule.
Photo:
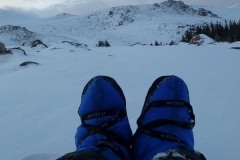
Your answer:
[[[93,77],[78,109],[76,151],[58,160],[204,160],[194,151],[195,116],[186,84],[177,76],[157,78],[143,104],[134,134],[117,82]]]

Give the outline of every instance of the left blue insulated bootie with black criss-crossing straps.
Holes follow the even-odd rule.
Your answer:
[[[92,78],[85,86],[78,109],[77,151],[90,151],[106,160],[129,160],[132,131],[122,89],[107,76]]]

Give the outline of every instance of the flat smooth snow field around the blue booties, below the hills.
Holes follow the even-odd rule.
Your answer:
[[[22,47],[27,56],[17,50],[1,55],[1,159],[53,160],[74,151],[80,96],[96,75],[113,77],[123,89],[133,131],[152,82],[163,75],[181,77],[196,115],[195,149],[207,159],[238,159],[240,51],[233,46],[240,43],[90,51],[53,44]],[[20,67],[24,61],[40,64]]]

